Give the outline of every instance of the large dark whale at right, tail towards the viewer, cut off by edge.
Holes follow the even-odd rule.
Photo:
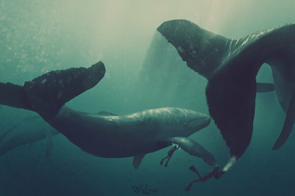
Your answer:
[[[230,149],[228,166],[250,143],[256,92],[275,90],[287,115],[273,149],[286,142],[295,119],[295,24],[275,26],[237,40],[187,20],[166,21],[157,30],[189,68],[207,78],[207,105]],[[271,67],[274,85],[256,84],[263,63]]]

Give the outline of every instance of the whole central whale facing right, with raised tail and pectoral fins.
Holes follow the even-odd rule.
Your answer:
[[[95,86],[104,76],[100,61],[89,68],[45,73],[24,86],[0,83],[0,104],[38,113],[47,123],[89,154],[132,157],[138,168],[145,154],[179,145],[184,151],[214,165],[204,147],[187,138],[210,123],[206,114],[180,108],[157,108],[116,115],[74,111],[64,104]]]

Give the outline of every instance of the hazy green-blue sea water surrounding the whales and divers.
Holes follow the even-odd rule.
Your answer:
[[[186,19],[214,33],[238,39],[275,25],[295,23],[294,0],[0,0],[0,82],[22,85],[53,70],[89,67],[101,60],[104,78],[67,106],[85,112],[128,114],[179,107],[208,114],[207,80],[186,66],[156,31],[164,21]],[[273,82],[264,65],[258,82]],[[136,196],[148,185],[158,196],[294,196],[295,133],[279,150],[271,148],[285,118],[275,92],[257,94],[254,130],[241,159],[219,180],[185,187],[212,167],[177,150],[168,168],[159,165],[171,147],[149,153],[139,169],[133,157],[87,154],[63,135],[0,156],[0,196]],[[36,116],[0,106],[0,134]],[[28,124],[25,129],[35,127]],[[225,165],[229,150],[212,121],[190,138]]]

